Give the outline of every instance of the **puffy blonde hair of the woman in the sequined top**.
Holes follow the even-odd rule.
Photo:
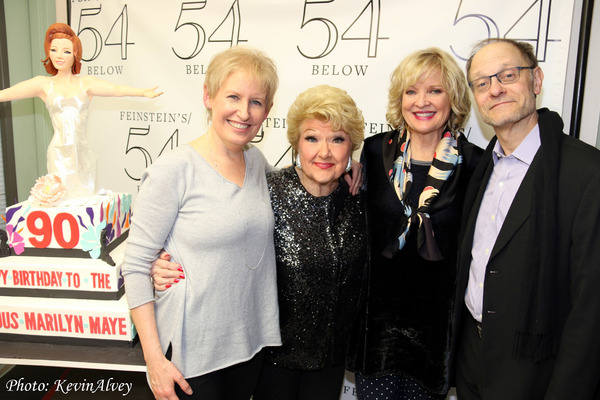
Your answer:
[[[294,157],[298,153],[302,123],[309,119],[329,122],[334,131],[344,131],[350,136],[352,151],[365,138],[365,119],[352,97],[333,86],[315,86],[300,93],[288,111],[287,135]]]

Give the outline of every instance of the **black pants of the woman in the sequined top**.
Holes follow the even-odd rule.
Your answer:
[[[265,364],[253,400],[339,400],[344,365],[300,371]]]

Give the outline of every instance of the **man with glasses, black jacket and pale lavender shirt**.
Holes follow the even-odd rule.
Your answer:
[[[463,212],[458,399],[600,399],[600,151],[536,111],[531,45],[479,43],[467,79],[496,136]]]

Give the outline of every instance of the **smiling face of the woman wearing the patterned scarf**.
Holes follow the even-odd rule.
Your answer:
[[[402,94],[402,117],[410,132],[441,137],[450,117],[450,97],[439,70],[423,76]]]

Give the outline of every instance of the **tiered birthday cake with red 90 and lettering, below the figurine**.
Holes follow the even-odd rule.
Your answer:
[[[0,245],[0,338],[132,344],[120,266],[132,196],[6,209]]]

